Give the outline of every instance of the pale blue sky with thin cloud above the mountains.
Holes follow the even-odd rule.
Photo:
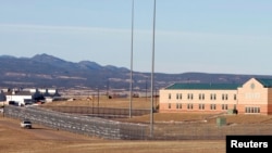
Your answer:
[[[154,51],[156,73],[272,75],[271,0],[156,0],[154,26],[153,3],[0,0],[0,55],[148,73]]]

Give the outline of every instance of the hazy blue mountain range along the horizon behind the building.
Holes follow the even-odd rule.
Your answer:
[[[99,88],[129,89],[131,71],[113,65],[101,66],[96,62],[73,63],[62,59],[37,54],[33,58],[0,56],[0,88]],[[174,82],[243,84],[251,77],[272,76],[183,73],[154,73],[153,86],[164,88]],[[134,72],[135,90],[150,88],[150,73]]]

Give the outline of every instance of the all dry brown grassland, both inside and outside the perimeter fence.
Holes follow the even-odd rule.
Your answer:
[[[98,100],[86,99],[75,101],[52,102],[46,105],[97,106]],[[100,99],[102,107],[128,107],[129,99]],[[149,99],[133,99],[134,109],[149,109]],[[211,114],[188,113],[156,113],[156,122],[183,122],[203,119]],[[225,140],[163,140],[163,141],[134,141],[134,140],[104,140],[86,137],[67,131],[61,131],[34,125],[33,129],[22,129],[20,120],[7,118],[0,114],[0,153],[224,153]],[[230,123],[258,124],[272,123],[270,115],[230,115]],[[148,123],[150,116],[137,116],[122,119],[123,122]],[[208,120],[215,124],[215,119]]]

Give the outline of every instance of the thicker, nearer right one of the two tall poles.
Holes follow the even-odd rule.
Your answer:
[[[153,42],[152,42],[152,68],[151,68],[150,137],[153,137],[154,27],[156,27],[156,0],[153,1],[153,37],[152,37]]]

